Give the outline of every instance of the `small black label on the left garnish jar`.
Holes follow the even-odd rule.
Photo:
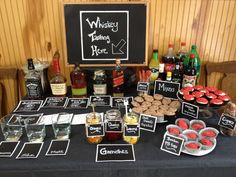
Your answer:
[[[91,136],[104,136],[104,123],[86,124],[86,135]]]

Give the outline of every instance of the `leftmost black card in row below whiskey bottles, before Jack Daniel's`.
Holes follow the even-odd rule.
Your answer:
[[[43,104],[43,100],[21,100],[13,112],[38,111]]]

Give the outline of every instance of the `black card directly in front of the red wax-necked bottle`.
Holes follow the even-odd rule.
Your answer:
[[[47,97],[43,108],[64,108],[68,97]]]

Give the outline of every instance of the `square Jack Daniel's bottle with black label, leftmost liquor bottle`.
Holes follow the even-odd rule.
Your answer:
[[[28,99],[41,99],[43,88],[40,73],[35,71],[33,59],[28,59],[28,73],[25,75],[25,86]]]

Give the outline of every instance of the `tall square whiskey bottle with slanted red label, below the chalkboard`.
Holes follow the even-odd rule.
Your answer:
[[[113,96],[124,96],[124,71],[120,66],[120,59],[116,59],[115,69],[112,71],[113,78]]]

